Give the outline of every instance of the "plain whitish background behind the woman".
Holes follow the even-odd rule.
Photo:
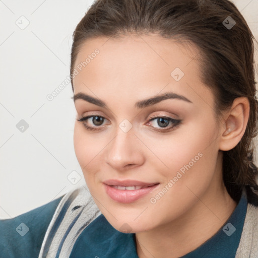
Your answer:
[[[92,3],[0,1],[2,219],[44,205],[85,183],[73,145],[76,112],[71,84],[52,101],[46,96],[69,76],[72,34]],[[258,39],[258,0],[234,3]],[[18,27],[26,22],[25,29]],[[16,127],[22,119],[29,124],[23,133]],[[76,184],[68,179],[72,171],[76,172],[71,177],[81,176]]]

